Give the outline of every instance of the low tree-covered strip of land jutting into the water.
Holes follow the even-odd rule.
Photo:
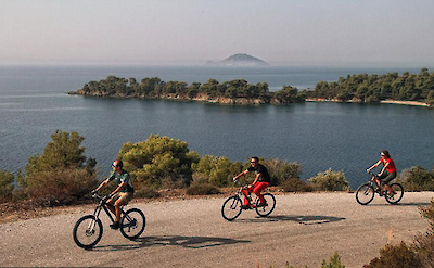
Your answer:
[[[102,98],[140,98],[162,100],[204,101],[222,104],[288,104],[306,101],[354,103],[398,103],[434,106],[434,72],[388,73],[386,75],[348,75],[337,81],[319,81],[314,90],[283,85],[270,92],[267,82],[248,84],[244,79],[219,82],[216,79],[192,82],[162,81],[158,77],[120,78],[108,76],[100,81],[89,81],[68,94]]]

